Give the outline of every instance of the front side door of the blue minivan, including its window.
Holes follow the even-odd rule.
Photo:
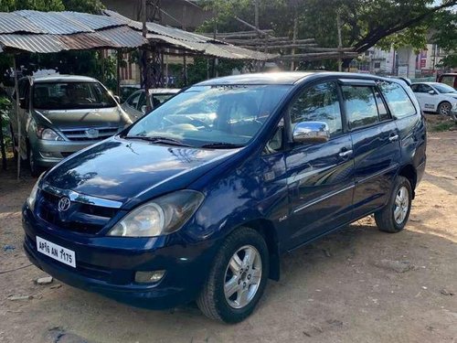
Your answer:
[[[287,244],[291,249],[351,219],[354,159],[336,80],[304,89],[292,101],[289,116],[292,128],[300,122],[324,122],[331,134],[328,142],[294,144],[284,154],[292,204]]]

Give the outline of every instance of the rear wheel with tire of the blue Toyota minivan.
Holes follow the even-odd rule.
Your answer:
[[[411,210],[412,188],[406,177],[397,177],[388,204],[377,213],[377,228],[384,232],[396,233],[405,227]]]

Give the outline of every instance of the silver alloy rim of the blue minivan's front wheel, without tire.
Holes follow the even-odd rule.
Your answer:
[[[252,301],[260,286],[261,257],[252,245],[245,245],[231,257],[224,279],[224,295],[233,308]]]

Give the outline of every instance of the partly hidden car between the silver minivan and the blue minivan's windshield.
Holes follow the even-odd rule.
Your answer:
[[[179,89],[174,88],[154,88],[153,90],[149,90],[151,94],[151,109],[154,110],[154,108],[174,97],[179,91]],[[133,121],[143,117],[146,113],[145,91],[134,91],[127,101],[122,103],[122,109],[126,113],[129,113]]]

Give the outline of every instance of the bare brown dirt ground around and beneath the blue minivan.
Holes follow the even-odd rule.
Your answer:
[[[0,173],[0,342],[457,342],[457,133],[429,137],[406,230],[367,218],[283,256],[282,280],[234,326],[195,305],[148,311],[36,285],[46,274],[27,261],[20,219],[35,181],[12,167]]]

